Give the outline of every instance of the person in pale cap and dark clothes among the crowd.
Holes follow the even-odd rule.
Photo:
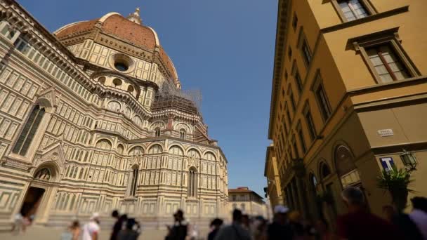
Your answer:
[[[289,208],[282,205],[275,206],[273,222],[268,225],[268,240],[291,240],[294,237],[291,227],[287,222]]]

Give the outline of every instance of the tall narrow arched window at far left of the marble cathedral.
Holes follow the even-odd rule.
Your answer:
[[[27,154],[29,145],[31,144],[32,139],[37,132],[37,128],[39,128],[41,119],[43,119],[44,112],[45,109],[43,107],[40,107],[39,105],[34,106],[32,112],[29,114],[24,128],[22,128],[18,140],[15,143],[15,147],[13,147],[13,153],[20,154],[22,156]]]

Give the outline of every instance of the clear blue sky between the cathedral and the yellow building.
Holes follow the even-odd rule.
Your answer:
[[[209,135],[228,159],[229,187],[263,196],[277,0],[21,0],[48,30],[141,9],[184,89],[202,91]]]

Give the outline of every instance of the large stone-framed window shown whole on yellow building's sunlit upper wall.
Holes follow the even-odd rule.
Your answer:
[[[421,75],[400,44],[398,29],[395,27],[348,40],[348,44],[353,44],[355,51],[362,56],[377,84]]]

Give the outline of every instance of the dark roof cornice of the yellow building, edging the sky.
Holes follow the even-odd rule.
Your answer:
[[[271,102],[270,102],[270,123],[268,126],[268,138],[272,139],[272,129],[275,124],[276,102],[277,93],[280,87],[280,76],[282,72],[282,65],[284,61],[284,46],[287,41],[287,25],[288,25],[288,11],[292,0],[279,0],[277,9],[277,27],[276,27],[276,44],[275,44],[275,59],[272,76],[271,87]]]

